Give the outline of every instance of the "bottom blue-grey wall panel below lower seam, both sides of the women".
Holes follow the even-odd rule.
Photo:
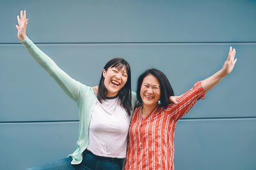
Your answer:
[[[255,118],[180,120],[175,169],[253,170]],[[77,122],[0,124],[1,169],[24,169],[74,152]],[[11,164],[12,162],[12,164]]]

